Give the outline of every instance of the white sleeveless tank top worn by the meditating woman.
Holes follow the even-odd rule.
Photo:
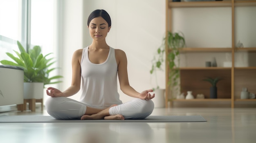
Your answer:
[[[101,64],[90,62],[88,47],[81,57],[82,95],[80,101],[93,108],[121,104],[117,92],[117,62],[115,49],[109,49],[108,58]]]

